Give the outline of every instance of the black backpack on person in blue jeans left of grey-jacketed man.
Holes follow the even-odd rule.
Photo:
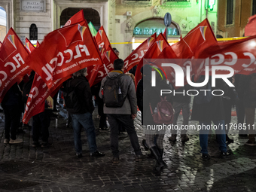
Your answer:
[[[75,87],[71,87],[71,80],[66,82],[65,89],[62,90],[64,99],[65,99],[65,105],[67,111],[71,114],[78,113],[81,111],[82,105],[79,102],[78,96],[75,93],[75,88],[78,87],[79,84],[81,84],[83,81],[79,81]]]

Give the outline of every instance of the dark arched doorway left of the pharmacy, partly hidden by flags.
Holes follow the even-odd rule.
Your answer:
[[[87,23],[93,23],[96,30],[100,28],[100,17],[98,11],[93,8],[66,8],[62,11],[60,15],[60,27],[64,26],[65,23],[78,11],[84,11],[84,18]]]

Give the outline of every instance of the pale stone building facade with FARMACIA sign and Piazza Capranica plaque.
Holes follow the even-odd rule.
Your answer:
[[[226,1],[226,0],[224,0]],[[63,26],[73,14],[84,10],[87,22],[103,26],[112,47],[125,59],[133,47],[126,42],[141,42],[152,33],[163,32],[166,12],[172,15],[169,41],[178,40],[206,17],[218,32],[217,0],[1,0],[5,9],[7,30],[14,28],[20,39],[43,41],[47,33]],[[116,44],[114,44],[116,43]]]

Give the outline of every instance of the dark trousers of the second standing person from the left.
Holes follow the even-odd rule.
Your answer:
[[[38,142],[40,136],[42,142],[48,142],[49,138],[49,126],[50,126],[50,114],[51,110],[44,110],[40,114],[33,116],[32,123],[32,138],[33,142]]]

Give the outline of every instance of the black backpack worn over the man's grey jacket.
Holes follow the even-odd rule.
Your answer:
[[[123,75],[120,74],[117,77],[111,78],[107,76],[105,84],[102,86],[103,101],[108,108],[120,108],[123,106],[123,102],[126,99],[126,96],[123,96],[120,84],[120,78]]]

